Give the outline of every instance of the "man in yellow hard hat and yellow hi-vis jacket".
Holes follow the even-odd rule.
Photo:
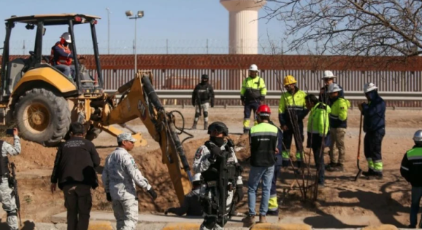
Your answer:
[[[283,166],[287,166],[290,160],[290,146],[294,136],[296,162],[300,167],[303,155],[303,119],[309,113],[309,110],[305,102],[307,94],[296,87],[296,82],[292,75],[284,77],[283,85],[286,92],[281,94],[280,98],[279,122],[281,129],[283,129],[283,148],[281,148]]]

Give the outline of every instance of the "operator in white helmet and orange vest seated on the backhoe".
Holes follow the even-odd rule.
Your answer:
[[[63,75],[72,79],[74,75],[75,67],[72,64],[73,56],[72,51],[69,49],[69,44],[72,43],[70,33],[65,32],[60,36],[60,41],[57,41],[53,47],[51,47],[50,64],[54,68],[63,72]]]

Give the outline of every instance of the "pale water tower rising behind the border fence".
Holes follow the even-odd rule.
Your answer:
[[[266,0],[220,0],[229,11],[229,53],[258,53],[258,11]]]

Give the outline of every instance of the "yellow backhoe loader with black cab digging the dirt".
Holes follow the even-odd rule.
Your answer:
[[[53,147],[66,139],[71,122],[82,122],[88,130],[85,138],[92,140],[101,131],[117,136],[122,130],[113,127],[113,124],[126,127],[125,122],[139,117],[153,139],[160,143],[162,162],[167,164],[179,203],[182,203],[184,195],[191,191],[191,172],[183,141],[179,139],[184,128],[175,124],[174,113],[177,111],[165,111],[154,91],[151,71],[137,72],[136,77],[122,85],[115,94],[103,92],[95,30],[98,19],[94,15],[75,13],[6,19],[0,72],[0,125],[17,126],[24,139]],[[25,25],[27,30],[36,32],[34,51],[30,51],[29,58],[10,60],[9,41],[15,25]],[[43,36],[50,25],[68,26],[72,39],[69,46],[75,57],[77,39],[74,27],[91,27],[97,77],[91,76],[79,60],[73,60],[75,74],[74,78],[70,78],[55,68],[49,56],[42,55]],[[54,34],[61,33],[63,31],[54,31]],[[122,94],[118,100],[117,94]],[[136,146],[146,144],[141,134],[132,133],[139,140]],[[193,137],[188,135],[186,139]]]

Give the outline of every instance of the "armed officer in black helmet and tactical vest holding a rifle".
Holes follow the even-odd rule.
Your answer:
[[[213,122],[208,127],[210,141],[200,146],[193,161],[193,172],[202,174],[200,201],[204,222],[201,230],[223,229],[234,215],[236,204],[243,198],[242,168],[234,153],[234,143],[229,129],[223,122]]]

